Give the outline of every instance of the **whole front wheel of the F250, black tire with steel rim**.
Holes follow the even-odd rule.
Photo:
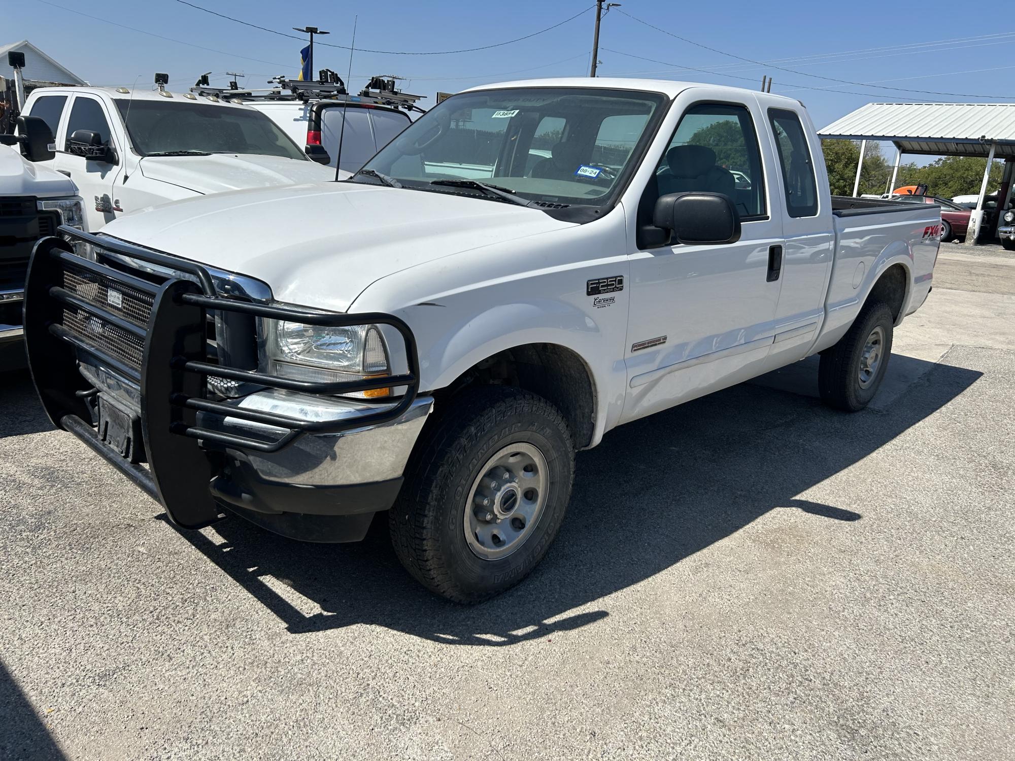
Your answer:
[[[448,404],[416,445],[389,526],[410,574],[471,604],[543,559],[570,499],[574,446],[560,412],[535,394],[483,387]]]

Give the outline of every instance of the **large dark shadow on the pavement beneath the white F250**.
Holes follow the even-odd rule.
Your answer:
[[[293,542],[239,517],[183,536],[291,633],[376,624],[449,644],[545,637],[606,617],[597,600],[769,510],[860,521],[849,505],[797,495],[891,441],[982,374],[898,355],[892,361],[919,379],[883,411],[836,412],[799,380],[791,393],[768,376],[612,431],[579,455],[568,514],[546,559],[519,586],[472,608],[441,600],[409,577],[388,543],[383,514],[353,545]],[[321,611],[307,615],[314,604]]]

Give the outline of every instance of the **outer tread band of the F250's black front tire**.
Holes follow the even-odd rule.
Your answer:
[[[443,488],[450,476],[474,451],[477,441],[506,418],[519,413],[545,416],[559,427],[568,443],[569,471],[573,480],[574,446],[563,416],[550,402],[514,387],[488,386],[455,397],[454,407],[432,421],[416,444],[405,470],[405,482],[395,505],[389,510],[391,541],[406,570],[431,592],[457,603],[474,604],[503,590],[475,595],[459,587],[433,540],[439,517]],[[567,493],[570,484],[567,484]],[[556,534],[563,510],[556,516]],[[521,581],[523,576],[516,579]],[[514,584],[512,584],[514,585]]]

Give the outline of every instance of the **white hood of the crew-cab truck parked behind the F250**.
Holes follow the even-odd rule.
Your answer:
[[[326,183],[335,179],[333,168],[316,161],[255,153],[145,156],[138,165],[141,174],[150,180],[179,185],[202,195],[295,183]]]

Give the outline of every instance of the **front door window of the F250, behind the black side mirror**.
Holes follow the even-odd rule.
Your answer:
[[[677,125],[656,170],[659,194],[722,193],[742,218],[764,216],[761,153],[743,106],[699,103]]]

